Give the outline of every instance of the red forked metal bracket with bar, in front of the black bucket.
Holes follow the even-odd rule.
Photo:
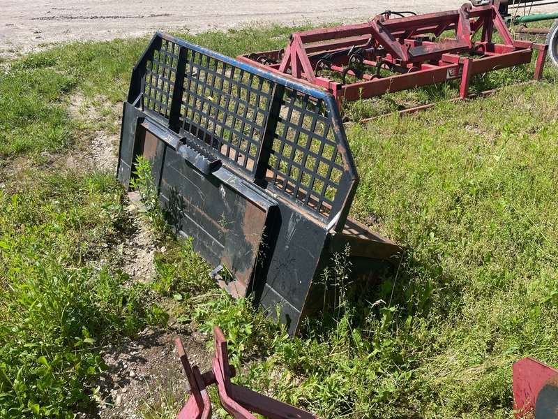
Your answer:
[[[235,371],[229,365],[227,339],[217,326],[213,328],[213,341],[215,343],[213,370],[200,374],[197,367],[190,367],[182,341],[180,338],[176,339],[176,347],[186,372],[188,393],[190,393],[190,398],[177,419],[211,418],[211,402],[206,390],[206,386],[211,384],[217,384],[221,405],[236,419],[257,419],[250,411],[270,419],[319,419],[318,416],[303,409],[231,383]]]

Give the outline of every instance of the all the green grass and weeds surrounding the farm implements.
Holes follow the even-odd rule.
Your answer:
[[[300,29],[189,39],[235,56],[282,47]],[[374,220],[408,255],[397,275],[345,290],[289,339],[248,300],[214,288],[203,260],[164,230],[156,277],[130,284],[119,249],[137,215],[114,175],[52,171],[53,160],[84,152],[84,136],[114,130],[107,109],[126,98],[147,42],[54,47],[10,62],[0,78],[0,416],[70,418],[90,406],[103,344],[164,327],[165,307],[190,328],[225,330],[234,365],[245,365],[237,382],[320,416],[511,418],[513,362],[558,365],[557,71],[520,87],[532,65],[489,73],[472,90],[507,86],[493,96],[347,126],[361,177],[352,216]],[[346,112],[380,115],[457,89]],[[104,109],[98,120],[70,116],[77,94]]]

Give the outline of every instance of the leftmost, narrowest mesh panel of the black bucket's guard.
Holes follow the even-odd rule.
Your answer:
[[[179,49],[180,45],[161,40],[160,48],[153,52],[151,59],[147,59],[142,80],[144,108],[163,115],[165,119],[169,118]]]

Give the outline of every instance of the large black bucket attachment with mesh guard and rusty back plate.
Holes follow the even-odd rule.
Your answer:
[[[349,249],[350,279],[400,260],[349,219],[358,177],[335,99],[319,89],[157,33],[124,103],[119,180],[152,164],[176,235],[230,294],[280,304],[291,334],[323,307],[324,271]]]

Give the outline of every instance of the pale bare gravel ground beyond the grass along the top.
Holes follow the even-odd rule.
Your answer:
[[[73,41],[107,41],[157,30],[200,32],[248,22],[292,24],[370,20],[384,10],[430,13],[458,8],[464,0],[3,0],[0,54]],[[550,10],[546,10],[550,8]],[[553,11],[553,6],[533,8]]]

